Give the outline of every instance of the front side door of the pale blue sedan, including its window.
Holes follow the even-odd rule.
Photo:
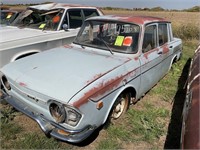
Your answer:
[[[162,52],[158,46],[158,24],[150,24],[145,27],[141,62],[141,94],[146,93],[161,78]]]

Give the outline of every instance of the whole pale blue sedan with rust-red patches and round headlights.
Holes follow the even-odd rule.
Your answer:
[[[72,44],[4,66],[3,93],[46,134],[77,143],[108,118],[118,119],[181,52],[165,19],[92,17]]]

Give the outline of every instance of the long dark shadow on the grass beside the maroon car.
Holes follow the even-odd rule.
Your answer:
[[[178,80],[178,89],[176,95],[172,101],[172,114],[171,120],[168,126],[168,133],[164,145],[164,149],[179,149],[180,137],[182,128],[182,111],[186,96],[186,84],[188,78],[188,72],[190,68],[191,58],[187,60],[182,70],[181,76]]]

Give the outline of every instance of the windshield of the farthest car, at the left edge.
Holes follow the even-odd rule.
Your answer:
[[[14,12],[14,11],[0,11],[0,16],[1,16],[1,20],[0,20],[0,24],[7,24],[9,25],[10,23],[13,22],[13,20],[17,17],[18,12]]]

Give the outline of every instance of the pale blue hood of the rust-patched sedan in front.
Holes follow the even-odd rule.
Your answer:
[[[15,84],[67,103],[128,59],[81,48],[59,47],[17,60],[2,71]]]

